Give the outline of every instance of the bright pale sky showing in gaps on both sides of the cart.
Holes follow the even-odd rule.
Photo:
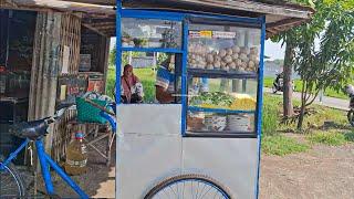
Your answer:
[[[111,39],[111,49],[114,48],[115,44],[115,38]],[[284,53],[285,53],[285,48],[281,48],[281,43],[273,43],[270,40],[266,41],[266,56],[269,56],[269,60],[283,60],[284,59]]]

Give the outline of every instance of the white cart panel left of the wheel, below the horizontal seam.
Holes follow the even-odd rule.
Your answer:
[[[156,184],[179,175],[180,165],[180,135],[126,134],[117,144],[117,198],[144,198]]]

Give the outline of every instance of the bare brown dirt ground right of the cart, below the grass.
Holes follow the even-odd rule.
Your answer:
[[[354,145],[261,157],[260,199],[353,199]]]

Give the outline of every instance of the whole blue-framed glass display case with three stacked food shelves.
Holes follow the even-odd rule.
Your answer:
[[[257,27],[190,22],[187,136],[257,137],[260,40]]]

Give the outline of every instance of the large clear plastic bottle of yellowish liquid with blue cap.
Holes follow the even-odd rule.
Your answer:
[[[87,150],[86,145],[82,140],[83,134],[76,133],[75,139],[67,146],[65,171],[69,175],[81,175],[86,172]]]

